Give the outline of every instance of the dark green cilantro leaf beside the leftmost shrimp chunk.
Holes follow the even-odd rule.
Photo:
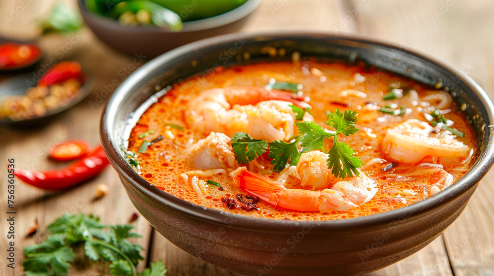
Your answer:
[[[232,138],[232,148],[237,161],[240,164],[247,164],[266,152],[268,142],[254,139],[245,132],[238,132]]]

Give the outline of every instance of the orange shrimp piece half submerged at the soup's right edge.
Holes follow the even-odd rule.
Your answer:
[[[425,185],[429,196],[433,196],[453,183],[453,175],[446,172],[441,165],[424,163],[413,167],[406,173],[389,173],[386,175],[386,180]]]

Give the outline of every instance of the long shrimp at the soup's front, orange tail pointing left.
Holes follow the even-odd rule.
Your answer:
[[[234,175],[233,180],[240,188],[271,205],[303,212],[346,210],[370,201],[377,192],[377,184],[364,173],[338,181],[331,189],[322,191],[287,189],[245,167]]]

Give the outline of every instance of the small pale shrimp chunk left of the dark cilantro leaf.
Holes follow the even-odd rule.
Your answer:
[[[199,170],[237,167],[232,142],[222,133],[211,132],[206,138],[189,146],[186,151],[192,159],[192,166]]]

